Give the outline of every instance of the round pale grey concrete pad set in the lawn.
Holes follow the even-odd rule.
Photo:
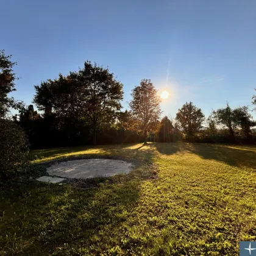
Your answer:
[[[56,163],[47,168],[50,176],[70,179],[88,179],[126,174],[132,170],[132,163],[114,159],[82,159]]]

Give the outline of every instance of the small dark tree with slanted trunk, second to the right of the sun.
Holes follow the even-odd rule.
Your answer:
[[[229,129],[229,134],[231,138],[235,138],[235,127],[236,127],[236,118],[232,108],[230,108],[229,103],[227,103],[226,108],[219,108],[216,111],[213,111],[217,123],[222,124]]]

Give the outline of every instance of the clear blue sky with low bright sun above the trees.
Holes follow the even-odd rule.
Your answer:
[[[255,0],[8,0],[1,10],[0,49],[20,77],[12,96],[26,104],[34,85],[90,60],[123,83],[124,109],[141,79],[169,91],[163,115],[189,101],[206,116],[227,101],[253,108]]]

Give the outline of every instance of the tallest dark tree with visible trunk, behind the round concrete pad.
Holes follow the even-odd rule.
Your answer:
[[[83,113],[92,125],[93,144],[96,144],[96,130],[114,123],[121,109],[123,84],[116,80],[108,68],[85,62],[77,76],[84,98]]]

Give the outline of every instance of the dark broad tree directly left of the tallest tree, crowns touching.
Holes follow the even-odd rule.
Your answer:
[[[82,104],[79,105],[82,91],[77,85],[77,74],[59,74],[57,79],[36,85],[35,90],[34,102],[39,110],[44,111],[44,125],[48,127],[44,133],[49,133],[49,130],[57,132],[59,140],[66,140],[66,143],[78,140],[85,118]]]

